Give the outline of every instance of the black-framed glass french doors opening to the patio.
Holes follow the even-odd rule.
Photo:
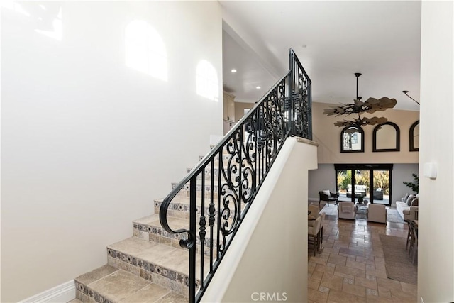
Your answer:
[[[335,164],[340,201],[391,206],[392,164]]]

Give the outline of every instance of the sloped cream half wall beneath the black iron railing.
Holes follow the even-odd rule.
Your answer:
[[[254,302],[260,293],[306,302],[307,172],[316,159],[316,145],[287,139],[202,302]]]

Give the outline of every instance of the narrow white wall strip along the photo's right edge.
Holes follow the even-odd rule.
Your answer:
[[[454,302],[453,1],[421,4],[418,294],[421,302]],[[435,180],[423,164],[436,163]],[[420,299],[418,299],[418,302]]]

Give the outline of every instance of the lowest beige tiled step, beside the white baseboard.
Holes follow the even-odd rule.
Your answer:
[[[187,302],[165,287],[104,265],[74,279],[77,299],[88,302]]]

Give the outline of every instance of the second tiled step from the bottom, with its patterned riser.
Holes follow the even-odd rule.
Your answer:
[[[108,264],[187,295],[189,252],[137,237],[107,246]],[[199,262],[199,261],[198,261]],[[209,258],[205,258],[209,264]],[[197,272],[196,277],[200,273]]]

